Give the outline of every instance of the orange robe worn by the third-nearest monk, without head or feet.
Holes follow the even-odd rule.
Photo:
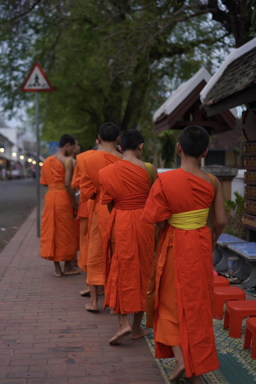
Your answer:
[[[88,235],[82,260],[82,265],[87,266],[88,285],[104,285],[102,244],[105,242],[110,215],[107,206],[99,203],[101,195],[99,170],[118,160],[119,157],[103,151],[95,152],[84,159],[80,182],[81,203],[86,202],[96,192],[95,200],[88,201]]]

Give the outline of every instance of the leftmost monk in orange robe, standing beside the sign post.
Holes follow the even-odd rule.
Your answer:
[[[40,255],[55,263],[57,277],[61,277],[63,273],[79,273],[71,267],[71,260],[76,260],[73,210],[78,209],[78,202],[75,191],[71,188],[73,162],[67,159],[73,153],[75,143],[74,137],[63,135],[59,141],[58,152],[47,157],[41,168],[40,184],[48,185],[48,192],[45,195],[42,216]],[[63,273],[60,261],[65,262]]]

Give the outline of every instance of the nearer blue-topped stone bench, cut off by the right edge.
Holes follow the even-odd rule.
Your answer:
[[[244,280],[245,288],[256,285],[256,243],[231,243],[228,250],[239,258],[240,266],[234,276]]]

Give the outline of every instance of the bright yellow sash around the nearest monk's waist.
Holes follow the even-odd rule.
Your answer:
[[[198,229],[206,225],[208,212],[209,208],[205,208],[196,211],[182,212],[181,214],[173,214],[167,219],[167,222],[178,229]]]

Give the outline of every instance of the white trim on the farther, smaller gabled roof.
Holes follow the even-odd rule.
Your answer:
[[[201,81],[205,80],[206,83],[208,83],[210,79],[210,73],[205,69],[205,67],[201,67],[200,70],[192,76],[192,78],[180,84],[176,91],[173,92],[173,94],[164,102],[164,104],[160,106],[159,109],[157,109],[153,116],[153,122],[155,122],[156,119],[163,113],[167,116],[170,115],[198,86],[198,84],[201,83]]]

